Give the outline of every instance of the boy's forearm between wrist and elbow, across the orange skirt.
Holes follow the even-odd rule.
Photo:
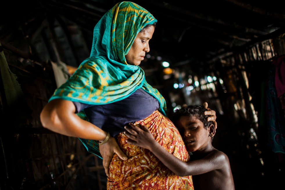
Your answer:
[[[157,141],[153,143],[150,151],[176,175],[187,176],[187,163],[167,152]]]

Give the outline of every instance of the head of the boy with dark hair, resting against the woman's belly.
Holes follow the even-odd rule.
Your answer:
[[[190,152],[211,145],[215,135],[214,124],[212,121],[207,121],[209,115],[205,115],[205,111],[207,109],[199,105],[184,105],[173,113],[172,121]]]

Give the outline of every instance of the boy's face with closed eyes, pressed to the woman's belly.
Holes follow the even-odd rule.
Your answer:
[[[205,129],[204,124],[195,116],[181,116],[176,123],[186,148],[189,152],[204,150],[209,143],[209,128]]]

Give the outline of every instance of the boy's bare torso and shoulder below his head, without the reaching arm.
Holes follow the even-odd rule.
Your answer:
[[[227,155],[214,149],[207,155],[191,155],[191,161],[207,159],[209,163],[215,164],[217,168],[213,171],[200,175],[193,175],[195,190],[234,190],[234,180]]]

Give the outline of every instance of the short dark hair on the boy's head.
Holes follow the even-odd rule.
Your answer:
[[[202,123],[204,124],[204,128],[208,128],[209,126],[213,125],[213,121],[207,121],[207,118],[210,115],[205,115],[204,112],[207,111],[206,108],[200,105],[183,105],[180,109],[175,110],[172,114],[172,122],[174,125],[180,119],[181,116],[195,116],[197,117]]]

